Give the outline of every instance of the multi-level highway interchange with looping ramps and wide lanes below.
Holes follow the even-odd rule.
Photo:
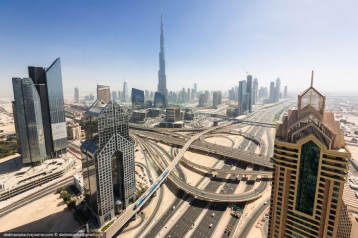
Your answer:
[[[280,108],[288,106],[288,102],[283,103],[281,105],[274,106],[269,109],[261,110],[261,112],[256,113],[254,116],[249,118],[249,120],[259,121],[259,122],[271,122],[272,118],[274,117],[275,113],[279,111]],[[242,127],[242,125],[236,125],[236,128]],[[247,125],[246,125],[247,126]],[[254,192],[260,186],[263,186],[266,189],[267,183],[269,179],[262,178],[261,175],[269,176],[270,168],[272,168],[272,163],[270,162],[270,156],[272,155],[272,146],[273,141],[270,137],[270,127],[261,127],[261,126],[247,126],[250,129],[247,131],[249,135],[252,136],[254,139],[244,139],[239,146],[236,148],[230,147],[223,147],[215,144],[210,144],[205,140],[194,139],[192,144],[188,145],[188,148],[192,148],[194,150],[206,151],[212,154],[224,154],[221,155],[221,160],[216,162],[213,168],[207,168],[200,164],[195,164],[192,161],[187,160],[183,155],[184,152],[181,154],[181,165],[176,165],[174,172],[169,175],[169,179],[172,183],[174,183],[177,187],[182,188],[179,189],[176,193],[176,197],[171,203],[171,205],[160,215],[160,217],[154,222],[146,222],[146,225],[142,225],[143,227],[136,233],[136,237],[210,237],[215,233],[215,235],[219,235],[222,237],[231,237],[235,233],[235,229],[237,228],[239,219],[230,216],[225,229],[221,229],[218,231],[216,226],[219,224],[220,220],[223,217],[223,214],[227,209],[230,209],[232,204],[236,204],[239,207],[244,208],[246,201],[237,202],[232,200],[230,202],[230,198],[235,196],[233,193],[236,188],[241,183],[241,193],[246,194],[250,192]],[[178,132],[165,132],[165,134],[161,131],[144,131],[144,130],[131,130],[132,135],[136,135],[138,140],[143,141],[160,141],[165,142],[168,145],[172,146],[170,153],[165,151],[161,148],[160,144],[153,143],[153,142],[143,142],[145,145],[145,149],[150,151],[148,154],[151,157],[151,160],[156,168],[161,168],[162,170],[166,169],[168,164],[173,162],[173,158],[178,157],[178,149],[176,147],[181,147],[185,145],[188,139],[191,138],[192,134],[180,134]],[[234,129],[233,126],[228,126],[226,128],[219,128],[216,129],[217,132],[220,134],[225,134],[225,131],[229,131]],[[220,130],[220,131],[218,131]],[[235,130],[238,132],[237,130]],[[158,133],[159,132],[159,133]],[[202,131],[203,132],[203,131]],[[210,131],[213,133],[214,131]],[[209,133],[209,132],[207,132]],[[257,147],[261,147],[261,143],[257,141],[257,138],[261,138],[264,133],[268,138],[267,141],[263,142],[263,147],[260,148],[259,154],[254,154]],[[155,134],[155,136],[154,136]],[[202,134],[202,137],[204,137]],[[193,135],[195,135],[193,133]],[[215,134],[212,134],[215,136]],[[170,137],[170,138],[169,138]],[[207,135],[206,135],[207,137]],[[198,137],[200,138],[200,137]],[[210,145],[207,145],[210,144]],[[207,148],[205,148],[207,147]],[[241,148],[241,149],[239,149]],[[250,148],[250,149],[249,149]],[[226,152],[224,151],[226,150]],[[221,151],[221,152],[220,152]],[[240,151],[240,152],[239,152]],[[231,153],[231,154],[230,154]],[[240,153],[240,154],[239,154]],[[176,156],[175,156],[176,155]],[[182,157],[183,156],[183,157]],[[155,158],[156,157],[156,158]],[[258,160],[256,160],[258,159]],[[264,164],[265,163],[265,164]],[[181,166],[184,164],[188,166],[193,166],[196,170],[202,170],[205,175],[203,178],[198,181],[199,184],[202,180],[210,178],[209,182],[206,183],[204,188],[205,195],[219,195],[222,196],[223,191],[225,189],[225,196],[227,197],[226,201],[222,202],[208,202],[205,200],[213,200],[212,197],[204,198],[200,196],[197,192],[197,187],[190,186],[195,191],[188,191],[188,184],[185,182],[185,174],[181,170]],[[232,166],[233,165],[233,166]],[[228,167],[230,166],[230,168]],[[242,172],[244,170],[251,168],[253,174]],[[200,168],[201,167],[201,168]],[[233,173],[228,173],[228,170],[224,170],[224,168],[228,168],[228,170],[232,170]],[[264,174],[260,174],[260,171],[264,172]],[[268,173],[267,173],[268,172]],[[235,174],[236,173],[236,174]],[[255,174],[257,173],[257,174]],[[235,174],[235,176],[234,176]],[[238,179],[236,176],[238,175]],[[214,177],[215,176],[215,177]],[[235,178],[235,179],[233,179]],[[257,184],[258,183],[258,184]],[[253,189],[255,186],[255,189]],[[232,188],[232,189],[231,189]],[[187,191],[188,193],[184,193],[182,190]],[[200,190],[201,191],[201,190]],[[193,193],[191,193],[193,192]],[[195,196],[193,196],[193,194]],[[202,197],[202,198],[200,198]],[[204,200],[203,200],[204,199]],[[183,205],[183,204],[189,205]],[[181,207],[181,213],[175,213],[175,209],[172,210],[172,207]],[[229,207],[229,208],[228,208]],[[185,208],[185,209],[184,209]],[[155,211],[154,211],[155,212]],[[173,220],[173,214],[175,213],[176,216],[179,216],[175,219],[175,222],[172,222],[168,226],[168,221]],[[215,213],[214,216],[213,213]],[[255,220],[256,221],[256,220]],[[209,225],[212,224],[212,227],[209,228]],[[148,227],[148,225],[150,227]],[[167,229],[165,228],[167,227]],[[249,226],[244,226],[245,229],[249,229]],[[145,231],[145,232],[144,232]],[[224,232],[226,231],[226,232]],[[230,231],[230,235],[228,236],[227,233]],[[161,232],[159,235],[158,232]],[[238,233],[238,232],[236,232]],[[116,234],[117,235],[117,234]],[[241,236],[240,236],[241,237]],[[244,236],[242,236],[244,237]]]

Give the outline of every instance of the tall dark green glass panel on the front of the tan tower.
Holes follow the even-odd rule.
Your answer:
[[[313,214],[321,149],[312,140],[301,147],[296,210]]]

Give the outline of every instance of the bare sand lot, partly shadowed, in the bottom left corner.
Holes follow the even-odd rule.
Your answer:
[[[0,232],[73,232],[80,225],[58,194],[49,194],[0,218]]]

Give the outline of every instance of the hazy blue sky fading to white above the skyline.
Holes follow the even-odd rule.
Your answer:
[[[163,5],[168,90],[228,90],[256,76],[289,91],[358,92],[357,1],[0,1],[0,95],[61,58],[64,93],[156,90]]]

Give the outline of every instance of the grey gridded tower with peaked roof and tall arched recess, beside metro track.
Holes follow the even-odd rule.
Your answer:
[[[81,144],[85,201],[99,226],[115,218],[115,198],[124,208],[136,200],[133,144],[127,112],[115,101],[97,100],[85,113]]]

